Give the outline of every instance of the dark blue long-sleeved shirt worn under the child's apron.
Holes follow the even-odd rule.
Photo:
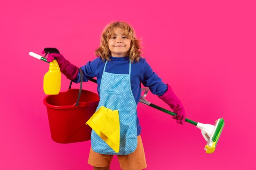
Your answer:
[[[93,61],[89,61],[86,65],[82,66],[83,71],[83,81],[88,82],[89,79],[97,77],[97,90],[100,94],[100,84],[103,75],[103,69],[105,66],[105,61],[101,57],[97,57]],[[129,57],[110,57],[105,71],[113,74],[129,74]],[[167,85],[162,82],[162,79],[153,72],[150,65],[146,62],[146,59],[140,57],[139,62],[133,62],[131,64],[131,89],[134,96],[136,104],[139,103],[141,97],[141,83],[150,89],[150,91],[155,95],[164,95],[167,91]],[[78,77],[73,80],[75,83],[80,82],[80,73]],[[140,135],[141,126],[139,125],[139,119],[137,115],[137,135]]]

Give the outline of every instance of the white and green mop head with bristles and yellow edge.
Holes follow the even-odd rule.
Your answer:
[[[206,153],[213,153],[215,151],[224,124],[225,123],[223,118],[218,119],[214,126],[210,124],[198,123],[197,127],[202,130],[202,135],[207,141],[207,145],[204,147]]]

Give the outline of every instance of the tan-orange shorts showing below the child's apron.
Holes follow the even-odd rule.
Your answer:
[[[144,147],[141,136],[138,136],[138,145],[134,152],[128,155],[117,155],[122,170],[143,170],[147,167]],[[90,149],[88,163],[95,167],[110,166],[113,155],[103,155]]]

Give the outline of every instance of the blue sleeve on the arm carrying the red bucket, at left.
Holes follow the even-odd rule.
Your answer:
[[[97,64],[99,62],[98,59],[99,58],[93,60],[92,62],[89,61],[86,65],[81,66],[81,69],[83,71],[83,82],[88,82],[89,79],[96,77],[96,75],[97,75],[96,68],[97,68]],[[78,72],[78,76],[76,77],[76,79],[73,80],[73,82],[79,83],[80,77],[81,77],[80,72]]]

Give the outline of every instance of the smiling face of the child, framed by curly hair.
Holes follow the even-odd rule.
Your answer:
[[[113,57],[124,57],[130,49],[131,40],[124,36],[124,30],[117,27],[108,40],[108,48]]]

